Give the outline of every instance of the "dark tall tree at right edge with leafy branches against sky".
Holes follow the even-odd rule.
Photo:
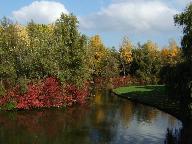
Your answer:
[[[182,26],[183,38],[181,41],[182,50],[186,61],[178,67],[184,67],[185,71],[178,74],[177,85],[182,85],[180,91],[184,91],[182,101],[189,101],[192,98],[192,3],[190,3],[184,12],[174,16],[175,24]],[[176,71],[177,72],[177,71]],[[178,70],[179,72],[179,70]],[[181,79],[184,78],[185,79]],[[190,103],[190,102],[189,102]]]

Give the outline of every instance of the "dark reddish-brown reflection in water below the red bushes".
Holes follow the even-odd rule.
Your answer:
[[[0,113],[0,143],[61,143],[73,138],[84,142],[88,130],[81,127],[88,111],[81,107],[81,110]],[[76,133],[72,133],[74,129]]]

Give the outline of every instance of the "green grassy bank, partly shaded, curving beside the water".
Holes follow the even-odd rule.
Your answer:
[[[164,85],[129,86],[113,89],[118,96],[156,107],[181,119],[179,102],[168,98]]]

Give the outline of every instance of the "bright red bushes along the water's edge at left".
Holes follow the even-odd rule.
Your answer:
[[[10,101],[14,101],[18,109],[71,106],[74,103],[84,104],[87,96],[87,85],[81,89],[75,85],[62,88],[58,79],[48,77],[39,84],[28,84],[27,92],[23,95],[19,94],[19,86],[16,86],[0,99],[0,106]]]

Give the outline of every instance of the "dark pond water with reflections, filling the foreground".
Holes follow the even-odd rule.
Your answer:
[[[163,144],[181,129],[173,116],[108,92],[68,110],[0,113],[1,144]]]

